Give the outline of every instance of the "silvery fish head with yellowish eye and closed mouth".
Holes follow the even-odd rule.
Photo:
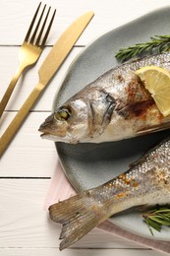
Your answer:
[[[60,106],[40,125],[41,138],[55,142],[77,144],[88,133],[88,111],[83,98]]]

